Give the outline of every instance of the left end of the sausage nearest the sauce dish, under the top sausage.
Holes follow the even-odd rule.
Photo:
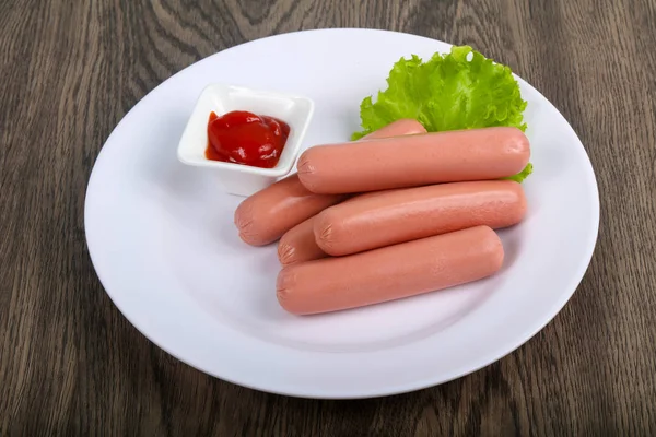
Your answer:
[[[265,246],[342,199],[309,192],[294,174],[246,198],[235,210],[234,221],[245,243]]]

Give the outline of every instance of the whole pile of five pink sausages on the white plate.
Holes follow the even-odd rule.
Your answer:
[[[280,305],[295,315],[361,307],[477,281],[501,269],[493,229],[520,222],[528,163],[516,128],[426,133],[399,120],[319,145],[298,173],[235,211],[253,246],[280,239]]]

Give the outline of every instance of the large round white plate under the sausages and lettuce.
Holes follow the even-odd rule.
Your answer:
[[[241,198],[176,160],[201,90],[213,82],[306,95],[304,147],[359,127],[363,97],[400,57],[449,45],[383,31],[330,29],[244,44],[175,74],[116,127],[89,182],[85,228],[118,309],[180,361],[269,392],[365,398],[434,386],[530,339],[563,307],[595,247],[599,199],[585,150],[561,114],[519,80],[535,173],[528,215],[500,233],[503,270],[466,286],[339,314],[294,317],[276,300],[276,246],[241,243]]]

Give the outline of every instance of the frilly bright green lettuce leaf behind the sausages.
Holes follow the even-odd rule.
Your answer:
[[[401,118],[420,121],[429,132],[513,126],[526,130],[519,85],[508,67],[495,63],[469,46],[435,54],[423,62],[412,55],[396,62],[387,90],[376,103],[368,96],[360,105],[363,130],[353,140]],[[523,181],[532,165],[508,179]]]

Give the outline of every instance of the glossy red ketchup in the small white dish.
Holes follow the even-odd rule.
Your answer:
[[[210,113],[206,157],[212,161],[271,168],[278,164],[290,135],[282,120],[233,110],[219,117]]]

